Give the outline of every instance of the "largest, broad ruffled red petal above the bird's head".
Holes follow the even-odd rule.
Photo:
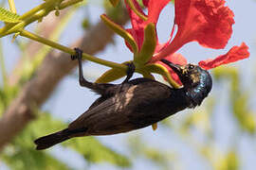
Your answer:
[[[175,0],[175,24],[178,31],[164,50],[155,55],[162,59],[187,42],[196,41],[206,47],[224,48],[234,24],[233,12],[224,0]]]

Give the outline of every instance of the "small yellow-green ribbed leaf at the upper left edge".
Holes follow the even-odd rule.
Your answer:
[[[19,15],[9,11],[6,8],[0,8],[0,21],[5,23],[19,23]]]

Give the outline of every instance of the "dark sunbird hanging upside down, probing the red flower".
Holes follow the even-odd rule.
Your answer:
[[[37,150],[49,148],[74,137],[113,135],[151,126],[174,113],[200,106],[208,96],[212,78],[196,64],[178,65],[166,59],[183,86],[174,89],[154,79],[129,80],[135,67],[129,65],[120,84],[92,83],[82,75],[82,50],[75,48],[72,59],[79,62],[79,82],[101,96],[68,127],[34,141]]]

